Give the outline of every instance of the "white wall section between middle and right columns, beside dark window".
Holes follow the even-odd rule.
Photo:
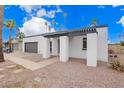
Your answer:
[[[69,57],[85,59],[87,50],[83,49],[83,37],[73,36],[69,38]]]

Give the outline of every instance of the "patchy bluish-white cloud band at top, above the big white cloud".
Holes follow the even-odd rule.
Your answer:
[[[62,13],[63,10],[60,8],[59,5],[53,6],[54,9],[46,10],[45,7],[42,5],[20,5],[19,6],[21,10],[25,11],[27,13],[27,16],[33,17],[48,17],[48,18],[54,18],[56,13]],[[52,7],[52,6],[48,6]]]

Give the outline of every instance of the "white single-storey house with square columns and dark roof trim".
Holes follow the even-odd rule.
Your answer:
[[[58,56],[60,62],[69,58],[86,59],[87,66],[97,61],[108,62],[108,26],[87,27],[73,31],[57,31],[27,36],[23,39],[23,52],[42,54],[43,58]]]

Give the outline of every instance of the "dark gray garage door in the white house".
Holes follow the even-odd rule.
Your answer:
[[[37,51],[38,51],[38,42],[25,43],[25,52],[37,53]]]

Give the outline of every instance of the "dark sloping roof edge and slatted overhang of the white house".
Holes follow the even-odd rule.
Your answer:
[[[103,28],[103,27],[108,27],[108,26],[107,25],[101,25],[101,26],[95,26],[95,27],[85,27],[83,29],[77,29],[77,30],[57,31],[57,32],[52,32],[52,33],[27,36],[25,38],[35,37],[35,36],[44,36],[44,37],[80,36],[80,35],[86,35],[88,33],[97,33],[96,28]]]

